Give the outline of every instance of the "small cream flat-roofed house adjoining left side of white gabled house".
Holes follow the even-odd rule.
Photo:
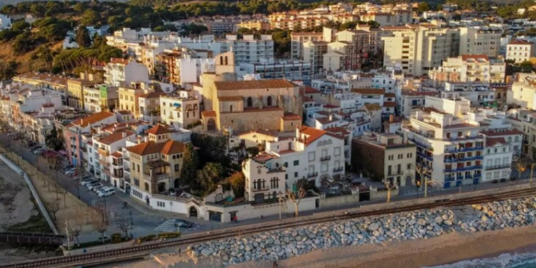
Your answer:
[[[276,156],[259,154],[242,163],[246,201],[265,202],[285,197],[286,172],[278,161]]]

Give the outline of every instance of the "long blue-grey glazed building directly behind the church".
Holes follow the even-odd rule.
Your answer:
[[[238,77],[255,75],[260,79],[285,79],[288,81],[311,84],[311,63],[307,61],[273,61],[257,64],[239,64]]]

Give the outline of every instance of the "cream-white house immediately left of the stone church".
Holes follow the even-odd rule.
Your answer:
[[[170,126],[191,127],[200,121],[199,103],[199,98],[188,91],[160,96],[160,119]]]

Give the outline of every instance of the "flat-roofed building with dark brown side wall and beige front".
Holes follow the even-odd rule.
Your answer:
[[[415,185],[415,144],[390,133],[369,133],[353,140],[352,167],[392,186]]]

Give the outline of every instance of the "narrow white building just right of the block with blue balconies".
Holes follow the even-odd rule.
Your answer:
[[[503,137],[486,137],[483,182],[510,179],[512,146]]]

